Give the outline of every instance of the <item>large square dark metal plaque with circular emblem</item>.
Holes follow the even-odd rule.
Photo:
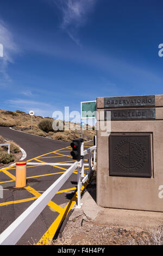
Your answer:
[[[109,175],[151,178],[150,135],[110,135]]]

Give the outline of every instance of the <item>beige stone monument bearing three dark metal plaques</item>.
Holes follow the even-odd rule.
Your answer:
[[[97,117],[97,204],[163,211],[163,95],[98,97]]]

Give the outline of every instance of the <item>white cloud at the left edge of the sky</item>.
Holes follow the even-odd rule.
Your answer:
[[[14,42],[12,33],[2,20],[0,20],[0,44],[3,45],[3,57],[0,58],[0,72],[5,80],[11,81],[7,74],[7,66],[9,63],[14,63],[13,56],[19,50]]]

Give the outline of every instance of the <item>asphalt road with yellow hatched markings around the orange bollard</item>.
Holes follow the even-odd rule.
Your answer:
[[[0,127],[0,135],[20,145],[27,153],[26,160],[34,159],[32,162],[50,163],[73,162],[70,156],[70,143],[29,135],[8,127]],[[0,198],[0,233],[39,197],[38,194],[46,191],[68,167],[27,166],[27,187],[21,190],[14,188],[15,167],[8,169],[7,173],[1,170],[0,185],[3,186],[3,198]],[[64,192],[55,195],[51,200],[51,206],[46,206],[17,242],[17,245],[33,245],[33,243],[39,242],[59,216],[60,209],[64,208],[73,197],[76,186],[77,173],[74,172],[60,189]]]

